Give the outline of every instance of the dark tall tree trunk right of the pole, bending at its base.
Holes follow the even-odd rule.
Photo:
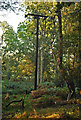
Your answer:
[[[63,77],[63,79],[66,81],[68,89],[69,89],[69,94],[67,97],[67,100],[69,100],[74,94],[75,94],[75,87],[74,87],[74,83],[71,80],[67,80],[67,78],[69,77],[67,75],[66,70],[62,67],[62,59],[63,59],[63,36],[62,36],[62,17],[61,17],[61,8],[60,8],[61,4],[60,2],[57,3],[57,12],[58,12],[58,22],[59,22],[59,46],[60,46],[60,50],[59,50],[59,59],[57,60],[58,65],[59,65],[59,69],[60,69],[60,73]],[[66,78],[67,76],[67,78]]]

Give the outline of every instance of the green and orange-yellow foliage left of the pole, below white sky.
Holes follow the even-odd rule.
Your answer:
[[[33,77],[34,64],[27,55],[22,52],[22,43],[11,26],[4,28],[3,40],[3,79],[19,80]],[[12,47],[13,46],[13,47]]]

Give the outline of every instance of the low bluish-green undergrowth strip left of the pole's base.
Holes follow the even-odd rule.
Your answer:
[[[34,89],[34,83],[33,82],[27,82],[27,81],[17,81],[17,82],[11,82],[7,81],[3,82],[3,86],[2,86],[2,93],[6,94],[9,93],[9,95],[13,95],[13,94],[21,94],[21,93],[25,93],[26,90],[27,92],[31,92],[31,90]]]

